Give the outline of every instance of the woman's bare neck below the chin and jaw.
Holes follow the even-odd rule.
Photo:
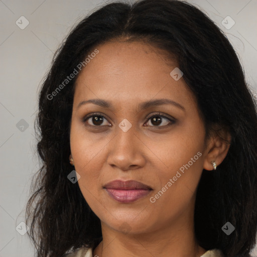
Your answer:
[[[165,224],[145,233],[126,234],[101,223],[103,240],[93,250],[93,256],[200,257],[205,253],[196,241],[192,220],[185,222],[181,215],[176,222],[169,223],[170,226]]]

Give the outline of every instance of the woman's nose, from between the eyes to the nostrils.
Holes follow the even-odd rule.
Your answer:
[[[146,163],[146,146],[133,127],[124,132],[118,126],[108,144],[107,164],[120,170],[134,170]]]

